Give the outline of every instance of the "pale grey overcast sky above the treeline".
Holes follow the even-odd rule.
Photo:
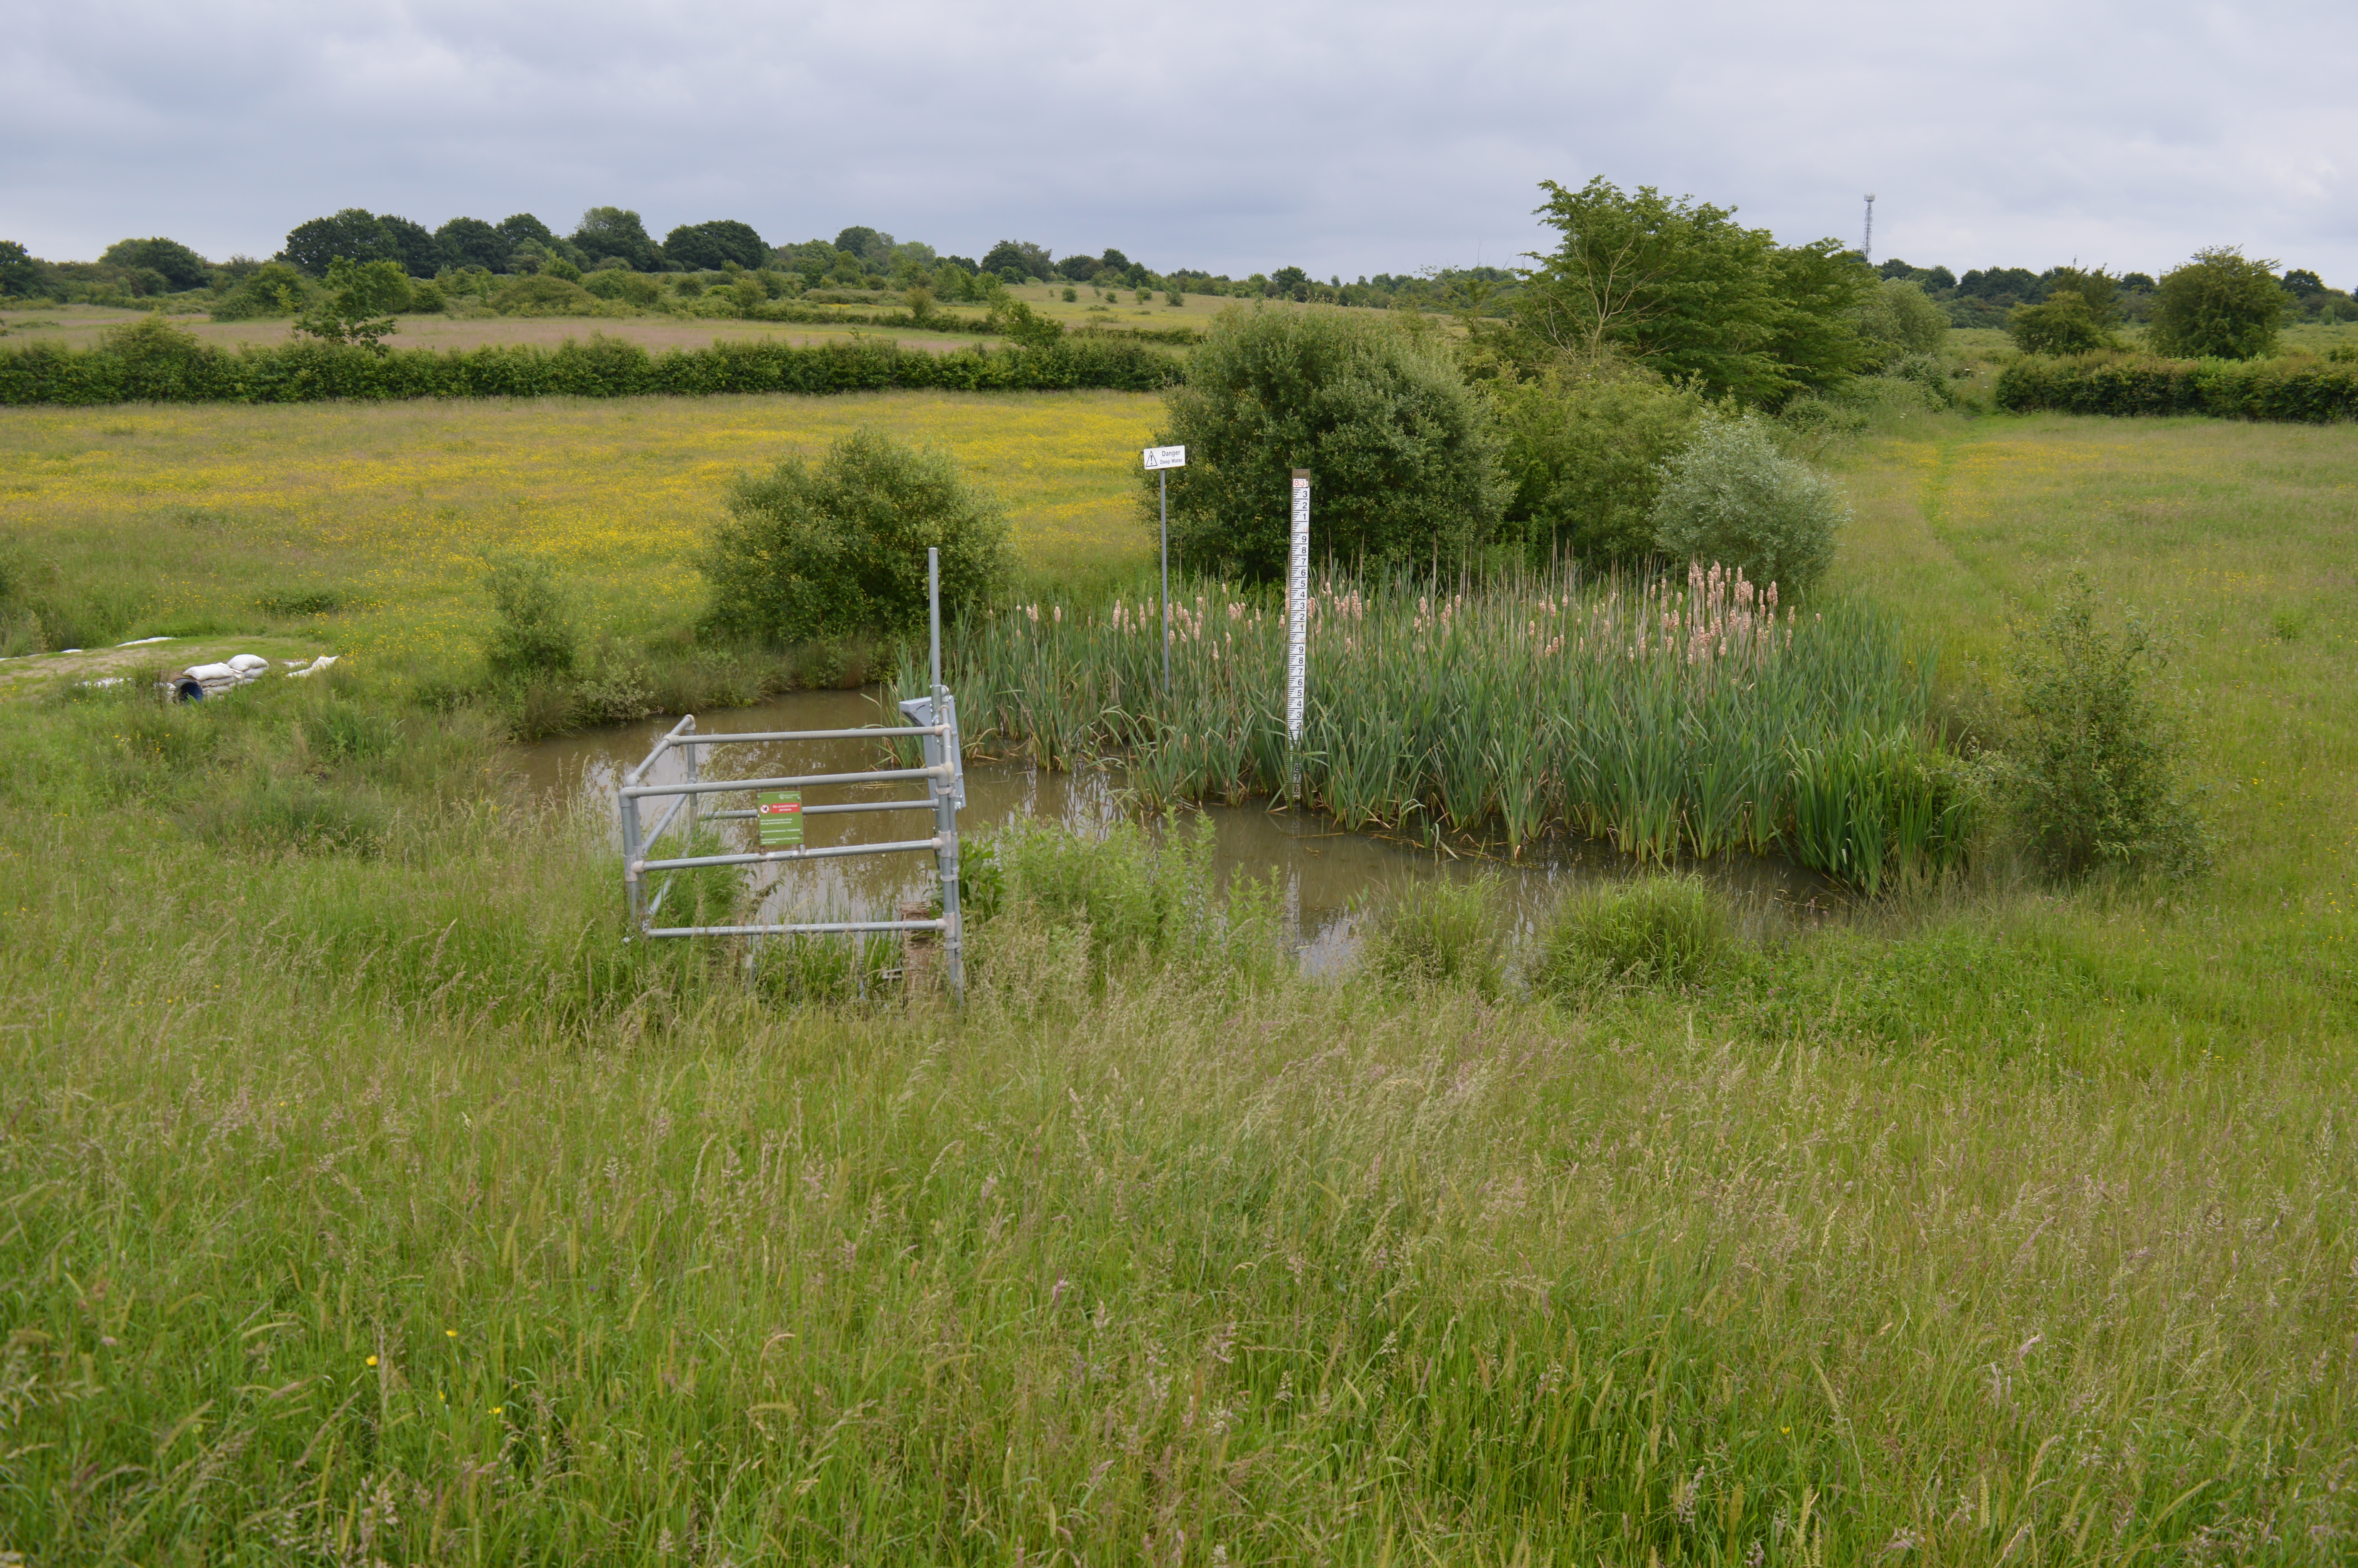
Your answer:
[[[347,205],[870,224],[1158,269],[1500,264],[1537,182],[1787,243],[2358,285],[2358,5],[14,0],[0,238],[271,255]]]

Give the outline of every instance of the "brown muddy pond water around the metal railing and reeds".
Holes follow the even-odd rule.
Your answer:
[[[696,717],[703,736],[759,733],[785,729],[858,729],[898,724],[875,691],[797,691],[757,707],[733,707]],[[523,773],[552,802],[571,802],[620,821],[615,790],[623,773],[639,766],[656,738],[677,719],[646,719],[521,747]],[[898,766],[882,759],[882,745],[865,740],[771,740],[747,745],[700,747],[705,778],[785,778],[797,773],[849,773],[875,766]],[[681,778],[679,752],[665,755],[646,783]],[[804,790],[804,802],[821,806],[849,799],[917,797],[913,785],[835,785]],[[738,806],[743,799],[726,799]],[[1120,778],[1104,771],[1052,773],[1023,762],[967,762],[967,809],[957,813],[962,835],[988,832],[1016,818],[1040,818],[1089,828],[1122,813]],[[1627,877],[1636,870],[1629,856],[1611,844],[1552,837],[1526,844],[1521,858],[1483,854],[1471,846],[1434,851],[1370,832],[1344,832],[1332,823],[1271,811],[1266,802],[1243,806],[1203,806],[1212,821],[1214,870],[1229,877],[1276,877],[1287,927],[1302,960],[1311,969],[1335,969],[1356,948],[1353,910],[1365,908],[1387,889],[1427,877],[1478,877],[1495,872],[1519,920],[1535,920],[1563,894]],[[875,811],[806,818],[806,844],[880,844],[922,837],[929,818],[908,811]],[[752,823],[724,823],[733,849],[752,849]],[[738,842],[740,839],[740,842]],[[1827,879],[1757,856],[1719,856],[1693,870],[1719,884],[1733,901],[1738,920],[1754,929],[1816,924],[1842,915],[1849,898]],[[757,868],[764,920],[856,920],[894,917],[903,901],[931,891],[934,863],[924,854],[856,856],[809,861],[802,865]],[[620,901],[620,868],[615,898]]]

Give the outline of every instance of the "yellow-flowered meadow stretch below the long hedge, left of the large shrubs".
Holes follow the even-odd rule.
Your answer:
[[[549,556],[618,634],[691,620],[691,554],[729,479],[861,424],[957,453],[1042,571],[1127,575],[1148,540],[1108,476],[1127,476],[1158,408],[927,394],[54,410],[0,422],[0,498],[17,545],[85,585],[108,641],[262,630],[262,599],[332,592],[351,611],[302,625],[415,672],[472,658],[486,552]],[[127,542],[137,566],[118,573]]]

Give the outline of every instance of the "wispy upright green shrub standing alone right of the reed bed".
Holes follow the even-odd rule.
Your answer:
[[[2160,663],[2136,613],[2113,615],[2087,578],[2018,632],[2000,776],[2016,830],[2051,872],[2207,865],[2176,714],[2153,691]]]

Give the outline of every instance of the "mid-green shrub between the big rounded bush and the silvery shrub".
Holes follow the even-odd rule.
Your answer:
[[[1549,370],[1502,382],[1493,403],[1514,486],[1507,526],[1535,561],[1573,554],[1629,564],[1653,554],[1662,465],[1693,439],[1700,391],[1646,373]]]

